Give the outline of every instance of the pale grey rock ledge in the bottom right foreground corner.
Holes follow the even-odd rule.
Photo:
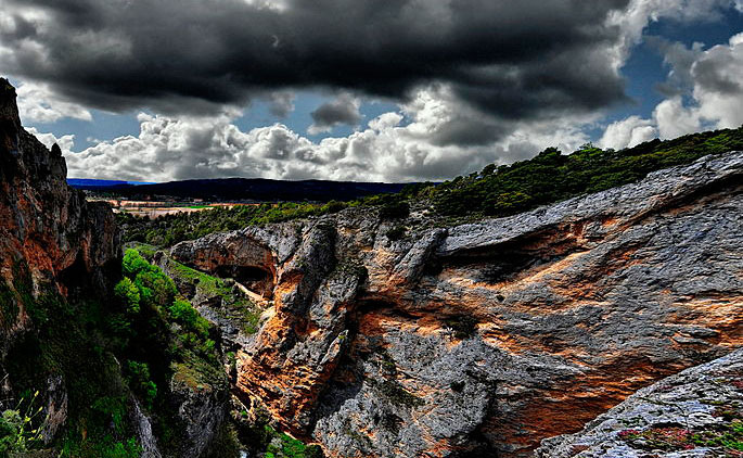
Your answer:
[[[577,434],[542,442],[539,458],[739,456],[743,351],[640,390]]]

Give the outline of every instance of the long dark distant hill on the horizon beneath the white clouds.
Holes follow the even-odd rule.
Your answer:
[[[373,194],[400,192],[405,183],[354,181],[283,181],[262,178],[225,178],[139,185],[127,181],[68,180],[69,185],[89,191],[125,198],[171,196],[205,201],[353,201]],[[73,182],[74,181],[74,182]]]

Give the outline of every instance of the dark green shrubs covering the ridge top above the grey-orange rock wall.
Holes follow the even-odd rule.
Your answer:
[[[507,166],[489,165],[419,196],[433,200],[445,216],[508,216],[581,194],[636,182],[649,173],[689,164],[708,154],[743,150],[743,128],[653,140],[614,151],[584,145],[565,155],[554,148]]]

